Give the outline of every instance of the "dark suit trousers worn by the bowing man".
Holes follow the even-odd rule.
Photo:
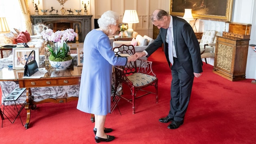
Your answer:
[[[182,64],[174,58],[171,66],[171,100],[168,116],[174,121],[183,121],[192,91],[194,76],[187,74]]]

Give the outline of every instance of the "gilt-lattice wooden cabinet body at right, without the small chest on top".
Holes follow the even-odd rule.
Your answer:
[[[213,72],[228,80],[245,79],[249,39],[217,36]]]

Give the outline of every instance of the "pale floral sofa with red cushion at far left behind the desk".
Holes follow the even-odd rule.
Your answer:
[[[29,47],[39,47],[39,54],[44,55],[45,40],[43,39],[42,35],[30,36],[28,32],[22,32],[21,30],[18,30],[16,28],[11,29],[9,33],[0,34],[0,47],[2,45],[8,44],[17,45],[16,42],[26,42]],[[12,55],[11,50],[3,51],[3,57],[1,58],[9,57],[10,55]]]

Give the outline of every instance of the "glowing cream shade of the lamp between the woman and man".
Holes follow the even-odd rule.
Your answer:
[[[125,10],[123,23],[139,23],[139,18],[136,10]]]

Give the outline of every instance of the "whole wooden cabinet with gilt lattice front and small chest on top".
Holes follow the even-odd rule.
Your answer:
[[[231,81],[245,79],[251,26],[229,23],[228,32],[216,36],[214,73]]]

